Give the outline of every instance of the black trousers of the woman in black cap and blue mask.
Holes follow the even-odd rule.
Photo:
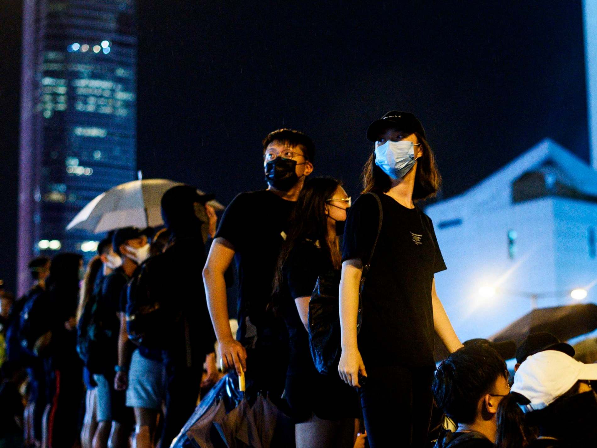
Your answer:
[[[370,447],[428,446],[433,367],[372,366],[367,375],[359,395]]]

